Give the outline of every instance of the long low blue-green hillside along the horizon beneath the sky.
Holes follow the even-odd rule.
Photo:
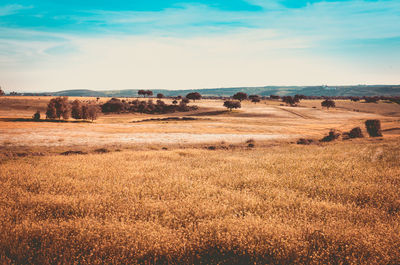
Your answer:
[[[371,85],[371,86],[265,86],[265,87],[230,87],[209,89],[187,89],[187,90],[152,90],[154,95],[162,93],[165,96],[186,95],[190,92],[200,92],[203,96],[231,96],[236,92],[247,94],[269,95],[295,95],[306,96],[400,96],[400,85]],[[64,90],[53,93],[40,93],[39,95],[51,94],[53,96],[83,96],[83,97],[136,97],[137,89],[126,90]],[[30,94],[30,93],[26,93]]]

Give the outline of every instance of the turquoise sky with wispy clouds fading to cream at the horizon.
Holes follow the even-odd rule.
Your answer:
[[[0,86],[400,84],[399,0],[0,0]]]

